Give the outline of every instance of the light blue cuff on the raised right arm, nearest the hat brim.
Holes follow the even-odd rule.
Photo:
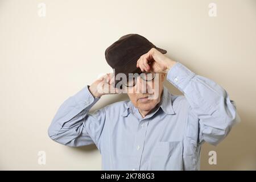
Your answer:
[[[176,63],[167,73],[167,80],[172,85],[176,86],[181,92],[184,93],[184,89],[188,85],[189,81],[196,74],[191,72],[187,67],[181,63]]]

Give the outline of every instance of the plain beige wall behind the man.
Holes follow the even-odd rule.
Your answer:
[[[208,15],[210,2],[216,17]],[[218,82],[237,103],[242,122],[217,147],[203,146],[201,169],[255,170],[255,32],[255,0],[0,0],[0,169],[101,169],[94,146],[62,146],[47,129],[65,99],[110,72],[106,47],[137,33]],[[126,98],[104,96],[93,109]],[[217,165],[208,164],[211,150]],[[38,151],[46,151],[46,165],[38,164]]]

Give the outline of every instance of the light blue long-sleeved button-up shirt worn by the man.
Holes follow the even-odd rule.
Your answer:
[[[164,88],[161,101],[145,118],[130,101],[88,114],[100,98],[85,86],[60,106],[48,135],[72,147],[95,143],[104,170],[200,169],[201,145],[217,145],[228,135],[239,118],[236,106],[221,86],[180,63],[167,80],[184,96]]]

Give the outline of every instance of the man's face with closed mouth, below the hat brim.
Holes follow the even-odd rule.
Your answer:
[[[159,73],[154,80],[146,82],[146,84],[142,84],[142,78],[137,77],[136,85],[131,88],[130,92],[127,92],[133,105],[142,111],[150,111],[154,109],[160,102],[165,76],[164,73]],[[153,95],[154,99],[152,99]]]

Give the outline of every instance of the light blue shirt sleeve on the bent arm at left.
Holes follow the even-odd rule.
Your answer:
[[[85,86],[60,106],[48,128],[49,137],[66,146],[78,147],[95,143],[98,147],[105,123],[105,108],[88,114],[100,98],[94,98]]]

